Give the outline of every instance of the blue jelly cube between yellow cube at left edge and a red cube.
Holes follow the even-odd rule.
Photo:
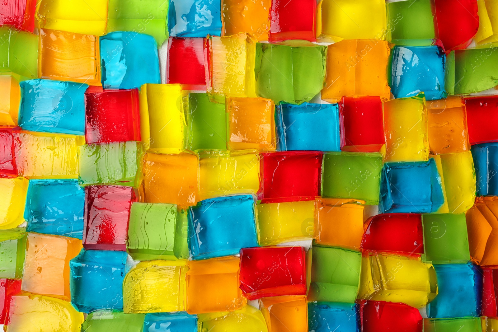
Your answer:
[[[78,180],[29,180],[27,231],[82,239],[85,192]]]

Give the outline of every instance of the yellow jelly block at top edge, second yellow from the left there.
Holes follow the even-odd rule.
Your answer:
[[[318,7],[318,40],[384,39],[385,11],[382,0],[322,0]]]

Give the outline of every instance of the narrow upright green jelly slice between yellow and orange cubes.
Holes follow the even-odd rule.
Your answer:
[[[225,97],[189,94],[189,150],[226,150],[227,113]]]

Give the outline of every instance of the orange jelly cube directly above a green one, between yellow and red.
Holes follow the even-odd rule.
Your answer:
[[[315,242],[360,250],[365,202],[324,198],[316,204]]]

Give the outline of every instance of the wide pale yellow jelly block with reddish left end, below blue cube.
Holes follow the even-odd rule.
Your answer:
[[[20,175],[30,179],[78,178],[78,146],[84,136],[20,131],[14,133]]]

